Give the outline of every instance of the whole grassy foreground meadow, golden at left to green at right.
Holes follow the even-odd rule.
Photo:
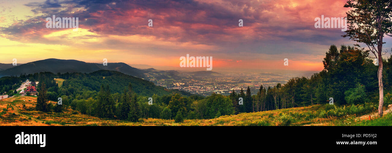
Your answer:
[[[50,101],[56,103],[55,101]],[[0,126],[392,126],[391,113],[378,118],[377,105],[312,105],[220,116],[214,119],[139,119],[138,122],[100,119],[70,108],[62,113],[35,110],[36,96],[0,100]],[[370,117],[369,117],[370,116]]]

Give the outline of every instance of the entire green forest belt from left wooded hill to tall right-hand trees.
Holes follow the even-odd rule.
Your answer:
[[[263,87],[257,93],[241,88],[229,96],[213,93],[203,97],[157,87],[152,82],[116,71],[83,73],[39,73],[24,78],[44,82],[47,97],[92,116],[138,121],[140,118],[211,119],[214,117],[328,103],[335,105],[376,103],[377,68],[362,48],[331,45],[323,60],[324,69],[310,78],[296,77],[286,84]],[[385,105],[391,104],[392,55],[384,62]],[[64,78],[62,87],[53,78]],[[15,79],[15,78],[14,78]],[[16,79],[17,80],[17,79]],[[17,82],[17,81],[16,81]],[[149,97],[152,105],[148,104]],[[240,98],[243,105],[239,104]]]

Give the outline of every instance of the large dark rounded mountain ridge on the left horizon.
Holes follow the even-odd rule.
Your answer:
[[[7,68],[6,66],[3,66]],[[132,68],[123,62],[108,63],[107,66],[99,63],[87,63],[79,60],[63,60],[63,59],[44,59],[34,62],[28,62],[18,66],[12,66],[8,69],[0,71],[0,77],[20,74],[33,74],[39,72],[52,72],[52,73],[91,73],[98,70],[111,70],[119,71],[121,73],[132,75],[134,77],[143,78],[144,70]]]

